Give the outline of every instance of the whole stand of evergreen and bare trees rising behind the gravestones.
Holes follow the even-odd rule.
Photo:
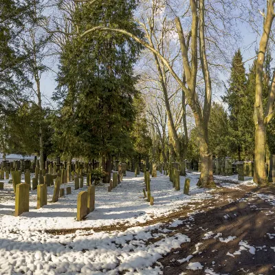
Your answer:
[[[266,182],[274,1],[0,0],[0,8],[3,153],[100,159],[107,170],[116,157],[151,157],[179,162],[181,175],[184,159],[199,158],[203,187],[214,186],[212,155],[229,155],[255,159],[255,180]],[[237,51],[224,105],[214,103],[238,23],[250,18],[254,29],[264,19],[254,63],[246,74]],[[54,56],[56,108],[41,93]]]

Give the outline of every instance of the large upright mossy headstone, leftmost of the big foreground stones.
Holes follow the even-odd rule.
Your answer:
[[[17,184],[15,192],[15,211],[17,217],[23,212],[29,212],[30,194],[28,184]]]

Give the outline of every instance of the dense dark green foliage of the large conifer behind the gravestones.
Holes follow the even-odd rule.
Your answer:
[[[108,25],[140,35],[134,8],[134,1],[87,3],[76,10],[74,20],[80,30]],[[139,51],[139,45],[115,33],[98,32],[65,45],[54,93],[61,107],[55,120],[60,151],[88,159],[131,154],[137,95],[133,64]]]

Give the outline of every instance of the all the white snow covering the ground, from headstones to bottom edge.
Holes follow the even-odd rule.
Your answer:
[[[143,227],[139,223],[166,216],[186,203],[219,196],[212,190],[197,188],[199,173],[187,177],[191,179],[190,196],[183,194],[185,177],[180,179],[180,191],[175,191],[167,176],[158,173],[157,178],[151,178],[155,204],[150,206],[143,198],[143,174],[135,177],[127,172],[112,192],[107,192],[106,184],[96,186],[96,209],[85,221],[76,221],[76,198],[78,192],[87,189],[86,184],[78,190],[72,182],[61,186],[72,186],[72,195],[65,195],[57,203],[50,202],[54,187],[49,187],[48,204],[39,210],[36,190],[30,191],[30,212],[14,217],[12,186],[5,180],[4,190],[0,190],[0,274],[161,274],[162,265],[157,260],[190,239],[185,234],[168,234],[181,220],[170,223],[169,230],[162,223]],[[236,176],[230,178],[235,180]],[[244,184],[251,184],[250,179]],[[193,219],[192,213],[189,216]],[[45,232],[102,225],[131,228],[112,232],[76,230],[64,235]]]

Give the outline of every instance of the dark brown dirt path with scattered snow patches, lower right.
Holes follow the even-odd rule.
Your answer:
[[[186,234],[191,242],[160,260],[164,274],[275,274],[274,206],[257,195],[275,194],[274,189],[242,186],[241,190],[222,190],[222,200],[198,206],[197,210],[204,212],[173,228],[176,233]],[[231,199],[234,202],[228,203]],[[207,232],[212,232],[208,239]],[[229,236],[235,238],[224,242]],[[189,262],[180,261],[189,255]],[[202,269],[188,270],[188,265],[195,262]]]

